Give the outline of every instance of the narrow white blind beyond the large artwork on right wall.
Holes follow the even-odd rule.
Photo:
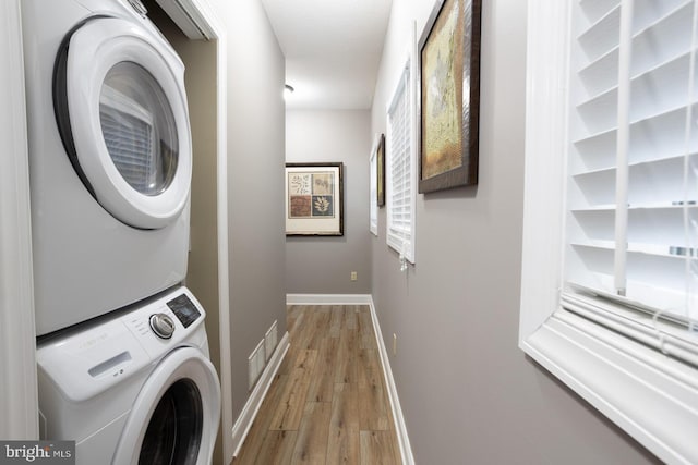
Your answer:
[[[414,262],[414,183],[412,180],[412,95],[410,61],[404,68],[387,121],[387,243],[406,261]]]

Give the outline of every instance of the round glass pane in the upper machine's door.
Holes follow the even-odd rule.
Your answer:
[[[159,195],[172,182],[179,158],[174,115],[155,77],[124,61],[107,73],[99,122],[115,167],[131,187]]]

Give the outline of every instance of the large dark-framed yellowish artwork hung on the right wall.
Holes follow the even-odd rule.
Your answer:
[[[438,0],[419,41],[419,192],[478,183],[482,0]]]

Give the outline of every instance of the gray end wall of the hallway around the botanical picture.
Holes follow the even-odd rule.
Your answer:
[[[365,111],[289,110],[286,161],[342,162],[345,235],[286,238],[286,289],[291,294],[370,294],[369,155]],[[351,281],[351,271],[358,280]]]

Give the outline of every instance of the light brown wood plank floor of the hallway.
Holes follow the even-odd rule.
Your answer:
[[[400,464],[371,314],[288,307],[290,348],[233,465]]]

